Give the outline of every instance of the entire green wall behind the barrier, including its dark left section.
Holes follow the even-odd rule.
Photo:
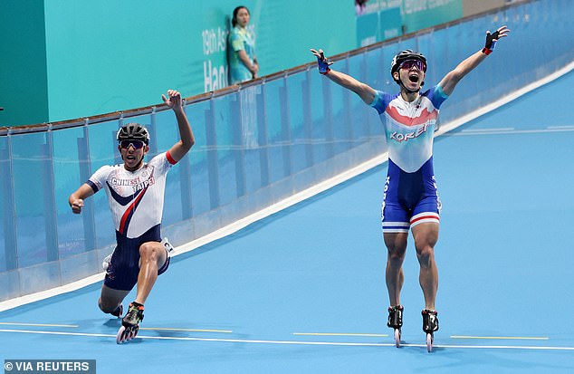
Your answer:
[[[235,0],[0,2],[0,126],[72,120],[227,84]],[[462,16],[462,0],[246,0],[260,76]],[[25,27],[23,27],[25,25]],[[373,34],[374,33],[374,34]]]

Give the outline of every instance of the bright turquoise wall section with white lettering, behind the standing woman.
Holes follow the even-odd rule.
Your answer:
[[[226,86],[226,19],[236,1],[44,4],[51,121],[151,105],[168,88],[192,96]],[[243,4],[252,13],[260,75],[310,62],[312,46],[341,53],[354,45],[354,35],[341,33],[340,25],[353,20],[350,3],[331,6],[330,17],[321,17],[323,1]]]

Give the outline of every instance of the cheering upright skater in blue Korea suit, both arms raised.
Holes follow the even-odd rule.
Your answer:
[[[391,62],[390,74],[400,92],[376,91],[349,75],[330,69],[321,50],[311,49],[317,57],[319,72],[332,82],[359,95],[362,101],[378,111],[385,128],[388,145],[388,171],[382,204],[382,226],[387,245],[386,282],[390,307],[388,327],[395,329],[400,341],[403,306],[400,291],[404,274],[402,264],[407,251],[407,236],[412,230],[416,257],[420,264],[419,283],[425,295],[423,330],[430,335],[438,330],[435,311],[438,271],[435,244],[438,240],[441,203],[436,193],[433,171],[433,138],[441,104],[453,93],[463,77],[493,52],[494,45],[510,30],[499,27],[486,33],[482,50],[460,62],[435,86],[421,92],[425,81],[426,58],[422,53],[406,50]],[[430,350],[430,346],[429,346]]]

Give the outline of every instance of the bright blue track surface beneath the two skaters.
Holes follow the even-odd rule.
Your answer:
[[[574,120],[556,99],[572,86],[569,73],[436,139],[430,354],[412,244],[402,348],[386,326],[383,166],[176,257],[146,304],[141,327],[154,330],[136,340],[116,344],[98,283],[0,312],[0,360],[95,359],[98,373],[141,374],[574,372]]]

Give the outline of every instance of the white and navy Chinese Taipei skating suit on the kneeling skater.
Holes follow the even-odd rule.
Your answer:
[[[104,283],[129,291],[138,283],[139,246],[161,242],[161,217],[167,171],[176,164],[169,152],[160,153],[136,171],[123,165],[104,166],[88,180],[94,193],[104,188],[116,226],[117,246],[111,256]],[[167,262],[158,269],[164,273]]]

